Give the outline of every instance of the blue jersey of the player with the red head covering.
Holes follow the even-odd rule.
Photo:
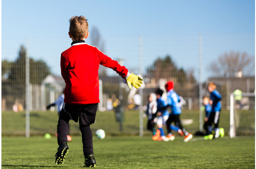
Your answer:
[[[179,104],[179,95],[172,89],[167,93],[168,105],[171,106],[171,115],[181,114],[181,108]]]

